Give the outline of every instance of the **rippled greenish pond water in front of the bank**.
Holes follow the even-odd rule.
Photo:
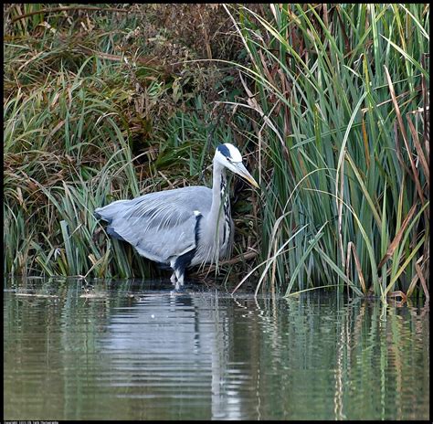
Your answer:
[[[429,419],[428,305],[5,281],[4,419]]]

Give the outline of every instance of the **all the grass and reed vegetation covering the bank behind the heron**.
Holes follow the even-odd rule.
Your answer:
[[[5,5],[5,272],[157,275],[93,209],[210,185],[214,147],[231,142],[262,189],[234,180],[223,275],[288,295],[428,296],[428,16]]]

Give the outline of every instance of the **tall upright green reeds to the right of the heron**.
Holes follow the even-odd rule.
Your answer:
[[[428,296],[429,5],[226,7],[259,118],[261,287]]]

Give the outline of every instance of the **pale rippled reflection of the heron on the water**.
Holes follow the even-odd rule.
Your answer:
[[[152,398],[156,390],[172,405],[188,398],[211,406],[214,419],[240,419],[238,385],[227,383],[227,374],[244,370],[227,369],[228,323],[227,303],[217,293],[137,296],[116,308],[100,340],[112,369],[107,383],[128,387],[125,396]]]

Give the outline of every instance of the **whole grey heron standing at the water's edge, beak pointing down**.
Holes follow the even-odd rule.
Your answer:
[[[176,288],[185,269],[226,258],[233,245],[234,225],[227,193],[226,170],[259,187],[230,143],[219,144],[213,161],[212,189],[191,185],[117,200],[95,209],[108,222],[107,233],[127,241],[137,252],[173,269]]]

